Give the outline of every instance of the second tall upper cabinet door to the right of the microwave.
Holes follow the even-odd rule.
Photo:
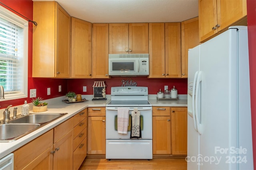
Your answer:
[[[180,22],[165,23],[165,76],[181,77]]]

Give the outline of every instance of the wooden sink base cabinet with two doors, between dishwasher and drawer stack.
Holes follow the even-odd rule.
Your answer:
[[[15,150],[14,169],[72,169],[73,123],[72,117]]]

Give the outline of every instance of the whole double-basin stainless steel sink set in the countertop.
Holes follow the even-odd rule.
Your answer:
[[[0,124],[0,142],[15,141],[66,114],[67,113],[37,113],[11,119],[6,124]]]

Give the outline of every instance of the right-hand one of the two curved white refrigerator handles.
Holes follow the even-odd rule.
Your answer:
[[[200,82],[202,82],[202,71],[199,71],[198,72],[198,77],[197,77],[197,80],[196,80],[196,94],[195,94],[195,117],[196,117],[196,127],[197,127],[197,131],[198,133],[201,135],[202,134],[202,126],[200,124],[200,121],[199,121],[199,109],[200,109]]]

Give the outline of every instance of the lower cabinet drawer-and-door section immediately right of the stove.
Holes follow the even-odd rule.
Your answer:
[[[171,154],[170,107],[152,107],[153,154]]]

